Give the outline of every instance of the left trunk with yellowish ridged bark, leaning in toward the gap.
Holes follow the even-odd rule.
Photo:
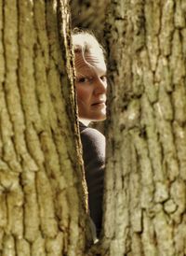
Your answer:
[[[2,256],[85,249],[68,18],[67,1],[0,0]]]

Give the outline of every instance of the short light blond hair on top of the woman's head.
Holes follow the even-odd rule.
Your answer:
[[[74,53],[81,53],[85,56],[86,53],[96,52],[102,54],[104,58],[104,49],[93,33],[75,29],[73,30],[72,40]]]

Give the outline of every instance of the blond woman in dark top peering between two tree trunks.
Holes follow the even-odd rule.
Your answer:
[[[90,217],[99,236],[102,220],[105,137],[87,125],[90,121],[103,121],[106,118],[106,64],[97,39],[86,32],[73,35],[73,49],[88,205]]]

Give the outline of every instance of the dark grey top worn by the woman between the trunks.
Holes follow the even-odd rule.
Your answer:
[[[102,221],[103,176],[105,167],[105,137],[93,128],[80,122],[83,159],[86,172],[88,205],[97,235],[100,235]]]

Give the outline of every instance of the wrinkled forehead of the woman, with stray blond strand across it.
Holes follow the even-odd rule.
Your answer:
[[[97,72],[99,74],[106,73],[106,64],[104,56],[100,52],[86,53],[83,55],[81,52],[75,53],[75,70],[80,72]]]

